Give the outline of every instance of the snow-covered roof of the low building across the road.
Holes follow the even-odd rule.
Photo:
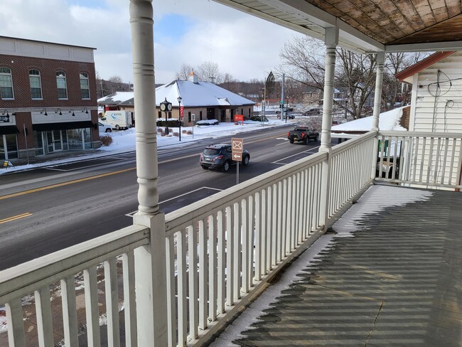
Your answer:
[[[192,82],[175,80],[168,85],[156,88],[156,104],[167,99],[173,105],[177,104],[177,98],[181,96],[181,105],[185,107],[203,106],[240,106],[254,105],[255,102],[237,95],[211,82]]]

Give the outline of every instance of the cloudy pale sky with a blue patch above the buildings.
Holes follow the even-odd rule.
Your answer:
[[[8,0],[0,35],[96,48],[108,79],[131,82],[129,0]],[[279,65],[289,29],[209,0],[153,0],[156,83],[171,82],[183,63],[218,64],[237,80],[263,80]]]

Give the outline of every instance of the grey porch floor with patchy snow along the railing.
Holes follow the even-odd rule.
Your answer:
[[[372,186],[211,346],[462,346],[462,193]]]

